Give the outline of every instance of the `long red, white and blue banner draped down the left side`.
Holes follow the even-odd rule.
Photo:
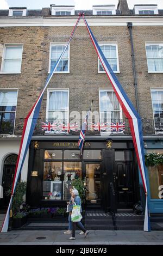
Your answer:
[[[51,73],[48,75],[48,78],[47,78],[46,83],[45,83],[45,87],[43,88],[40,96],[36,100],[32,109],[30,109],[27,117],[25,118],[24,126],[23,126],[23,132],[22,132],[22,138],[21,138],[21,144],[20,144],[20,149],[19,149],[17,163],[16,163],[14,181],[13,181],[13,184],[12,184],[11,198],[10,198],[7,214],[5,215],[5,219],[4,219],[4,222],[3,222],[3,225],[2,225],[1,233],[5,233],[5,232],[8,231],[9,212],[10,212],[10,207],[11,207],[11,204],[12,204],[12,197],[13,197],[13,194],[15,192],[18,177],[21,174],[21,170],[22,170],[23,163],[24,163],[24,160],[25,160],[26,155],[27,155],[27,151],[28,151],[28,148],[29,148],[31,137],[33,135],[33,131],[34,131],[34,128],[35,128],[35,125],[36,125],[37,118],[39,117],[39,112],[40,112],[43,93],[45,92],[49,82],[51,81],[51,78],[54,74],[54,71],[57,69],[57,66],[59,65],[59,62],[60,62],[61,58],[64,56],[64,53],[67,50],[68,45],[70,44],[70,41],[73,37],[73,34],[76,31],[76,28],[78,26],[80,17],[81,17],[81,15],[79,15],[79,17],[78,17],[76,25],[73,28],[73,31],[70,35],[70,39],[68,40],[67,45],[64,48],[64,51],[62,51],[61,56],[57,60],[57,63],[55,63],[55,65],[53,66],[53,68],[51,70]]]

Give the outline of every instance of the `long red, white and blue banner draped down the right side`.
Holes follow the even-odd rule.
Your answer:
[[[93,46],[95,47],[95,50],[98,54],[99,59],[101,60],[101,63],[103,65],[103,68],[106,72],[106,75],[108,76],[110,83],[114,89],[114,92],[117,96],[118,101],[120,102],[120,105],[123,109],[124,114],[129,120],[131,135],[133,137],[133,143],[135,148],[135,153],[137,157],[137,162],[139,164],[139,169],[142,177],[143,182],[143,188],[145,190],[146,194],[146,210],[145,210],[145,221],[144,221],[144,231],[150,231],[150,223],[149,223],[149,211],[148,211],[148,196],[147,196],[147,182],[146,182],[146,173],[145,173],[145,156],[143,151],[143,136],[142,136],[142,124],[141,124],[141,118],[139,114],[136,112],[135,107],[129,100],[126,92],[124,92],[121,83],[118,81],[118,78],[114,74],[114,71],[112,71],[108,60],[106,60],[101,48],[98,45],[98,42],[93,35],[85,17],[84,14],[82,14],[83,20],[85,22],[87,31],[89,32],[90,38],[92,40]]]

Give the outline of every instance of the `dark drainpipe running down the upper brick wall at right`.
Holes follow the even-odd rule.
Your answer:
[[[130,33],[130,42],[131,42],[131,57],[132,57],[132,63],[133,63],[136,109],[137,109],[137,112],[140,113],[139,112],[139,99],[138,99],[138,93],[137,93],[137,77],[136,77],[136,69],[135,69],[135,54],[134,54],[134,46],[133,46],[133,34],[132,34],[133,23],[129,22],[129,23],[127,23],[127,26],[128,26],[129,33]]]

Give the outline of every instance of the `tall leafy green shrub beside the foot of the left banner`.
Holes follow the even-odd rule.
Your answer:
[[[27,182],[18,182],[14,196],[12,198],[12,215],[13,217],[17,216],[18,213],[25,212],[22,211],[22,205],[24,203],[24,195],[26,193]],[[7,192],[8,195],[11,195],[11,189]],[[27,213],[26,213],[27,214]]]

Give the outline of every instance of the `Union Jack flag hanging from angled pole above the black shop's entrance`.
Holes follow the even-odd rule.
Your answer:
[[[92,100],[92,103],[93,103],[93,100]],[[80,135],[79,135],[78,147],[80,149],[80,155],[82,155],[82,151],[83,151],[83,145],[84,145],[84,141],[85,141],[85,133],[86,133],[86,129],[87,129],[87,122],[88,122],[89,115],[91,112],[92,103],[91,103],[89,111],[86,113],[86,117],[85,117],[83,125],[82,125],[82,130],[80,131]]]

